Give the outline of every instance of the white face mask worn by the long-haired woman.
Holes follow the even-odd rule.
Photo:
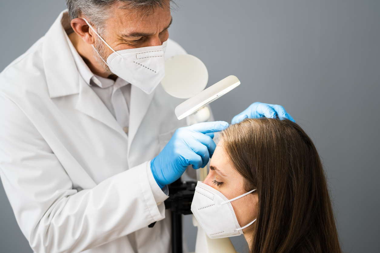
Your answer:
[[[250,226],[256,219],[241,227],[237,222],[231,201],[242,198],[255,190],[228,200],[218,190],[198,181],[191,204],[191,211],[196,220],[198,220],[199,225],[211,239],[239,236],[243,233],[242,230]]]

